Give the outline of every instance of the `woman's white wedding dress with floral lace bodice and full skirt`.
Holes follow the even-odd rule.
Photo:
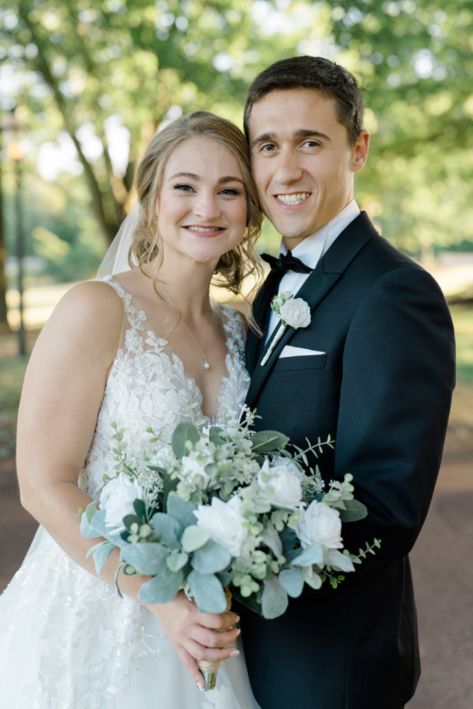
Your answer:
[[[79,486],[97,499],[113,471],[113,429],[125,429],[127,456],[143,457],[152,427],[169,440],[179,420],[210,423],[202,396],[167,342],[146,329],[132,296]],[[249,377],[241,316],[222,308],[228,376],[218,411],[237,413]],[[217,416],[218,420],[218,416]],[[0,706],[5,709],[257,709],[243,650],[221,663],[216,689],[199,691],[152,613],[75,564],[39,527],[21,568],[0,596]]]

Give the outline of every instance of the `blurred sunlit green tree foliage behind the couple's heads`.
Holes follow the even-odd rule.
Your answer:
[[[360,206],[416,252],[470,238],[472,14],[469,0],[11,0],[0,10],[11,86],[0,101],[16,106],[38,150],[67,132],[110,240],[162,121],[206,108],[241,125],[262,68],[330,57],[365,96]]]

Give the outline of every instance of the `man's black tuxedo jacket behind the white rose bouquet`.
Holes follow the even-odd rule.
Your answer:
[[[267,326],[273,274],[254,304]],[[365,520],[343,527],[376,556],[333,589],[304,590],[275,620],[240,610],[250,681],[262,709],[399,709],[420,674],[408,552],[427,514],[455,384],[455,340],[445,298],[416,263],[374,230],[366,213],[339,235],[297,296],[308,328],[288,328],[265,367],[250,333],[247,403],[256,428],[306,447],[328,434],[325,479],[350,472]],[[325,354],[284,357],[284,345]]]

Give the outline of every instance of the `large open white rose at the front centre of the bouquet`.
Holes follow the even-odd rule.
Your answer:
[[[240,498],[232,497],[228,502],[223,502],[214,497],[211,505],[199,505],[194,515],[197,525],[208,530],[214,542],[225,547],[232,557],[240,555],[241,546],[248,535],[247,527],[243,527],[245,518],[241,513]]]

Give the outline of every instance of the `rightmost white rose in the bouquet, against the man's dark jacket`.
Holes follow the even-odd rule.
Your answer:
[[[314,500],[306,510],[301,510],[296,532],[304,548],[317,543],[328,549],[342,549],[341,531],[342,522],[338,510],[323,502]]]

